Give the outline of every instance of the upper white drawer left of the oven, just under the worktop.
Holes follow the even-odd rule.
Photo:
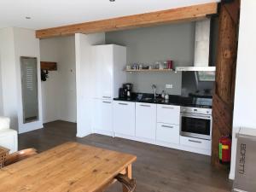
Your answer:
[[[172,125],[180,124],[180,106],[157,105],[157,122]]]

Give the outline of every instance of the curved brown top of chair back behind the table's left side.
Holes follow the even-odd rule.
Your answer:
[[[13,154],[9,154],[5,158],[4,166],[9,166],[20,160],[25,160],[26,158],[29,158],[35,154],[38,154],[35,148],[26,148],[24,150],[17,151]]]

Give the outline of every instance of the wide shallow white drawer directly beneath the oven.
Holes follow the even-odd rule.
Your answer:
[[[193,138],[193,137],[180,137],[180,144],[191,148],[211,149],[212,141]]]

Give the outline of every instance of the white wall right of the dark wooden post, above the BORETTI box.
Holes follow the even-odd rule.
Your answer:
[[[256,1],[241,1],[241,16],[236,67],[236,92],[233,119],[233,141],[230,178],[235,177],[236,132],[239,127],[256,129]]]

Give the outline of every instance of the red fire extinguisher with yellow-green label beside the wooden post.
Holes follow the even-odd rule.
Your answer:
[[[220,137],[218,140],[219,162],[229,164],[231,160],[231,137]]]

